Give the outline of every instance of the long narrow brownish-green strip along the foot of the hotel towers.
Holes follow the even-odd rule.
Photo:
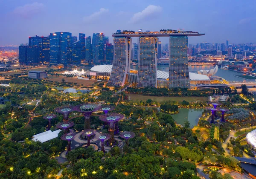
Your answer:
[[[207,101],[208,98],[207,97],[168,97],[168,96],[145,96],[145,95],[141,95],[141,94],[127,94],[128,96],[130,96],[131,100],[133,101],[146,101],[147,99],[152,99],[153,101],[157,101],[159,103],[164,102],[164,101],[177,101],[177,102],[182,102],[183,100],[185,101],[189,101],[189,102],[203,102],[203,101]]]

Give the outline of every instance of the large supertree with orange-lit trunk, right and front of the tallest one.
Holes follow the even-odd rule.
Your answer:
[[[117,131],[118,131],[118,121],[122,120],[123,118],[124,118],[124,115],[118,114],[118,113],[110,113],[107,115],[101,115],[99,117],[100,120],[104,122],[108,122],[109,124],[108,133],[111,135],[111,138],[109,141],[111,145],[115,141],[115,137],[114,137],[115,127],[117,128]]]

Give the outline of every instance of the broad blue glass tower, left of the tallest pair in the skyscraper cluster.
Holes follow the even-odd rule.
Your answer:
[[[60,63],[61,37],[60,34],[50,34],[50,65]]]

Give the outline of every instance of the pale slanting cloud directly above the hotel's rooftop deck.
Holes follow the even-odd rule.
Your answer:
[[[162,12],[162,7],[149,5],[142,12],[137,12],[131,17],[131,23],[139,23],[143,20],[150,20],[159,15]]]

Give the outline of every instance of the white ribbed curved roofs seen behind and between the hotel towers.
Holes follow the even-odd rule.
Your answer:
[[[94,72],[111,73],[112,65],[96,65],[96,66],[93,66],[90,70]],[[169,78],[169,72],[157,70],[157,79],[167,79],[167,78]],[[207,75],[201,75],[201,74],[196,74],[191,72],[189,72],[189,78],[190,80],[210,80],[210,78]]]

